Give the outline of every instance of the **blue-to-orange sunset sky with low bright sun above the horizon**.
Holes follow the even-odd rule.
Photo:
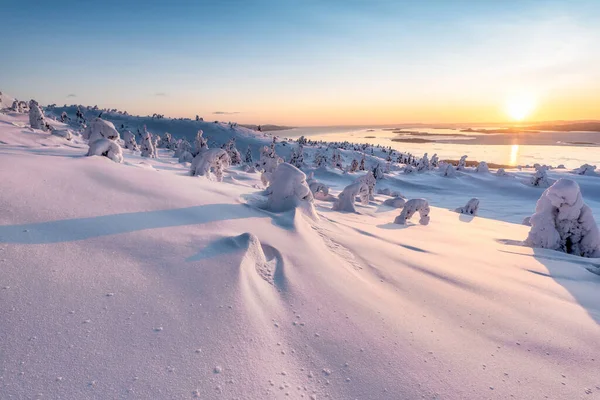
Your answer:
[[[600,1],[0,0],[0,90],[293,126],[600,119]]]

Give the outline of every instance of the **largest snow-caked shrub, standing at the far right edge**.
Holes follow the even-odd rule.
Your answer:
[[[544,191],[525,243],[582,257],[600,257],[600,233],[577,182],[559,179]]]

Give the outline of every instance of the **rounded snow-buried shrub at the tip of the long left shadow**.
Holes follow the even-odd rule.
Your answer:
[[[306,183],[306,175],[288,163],[279,164],[273,172],[267,196],[267,209],[275,212],[301,205],[313,207],[313,194]]]

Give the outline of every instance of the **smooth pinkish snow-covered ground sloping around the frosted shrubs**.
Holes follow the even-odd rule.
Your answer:
[[[255,160],[270,142],[111,115]],[[310,218],[262,209],[240,166],[214,182],[165,149],[119,164],[28,124],[0,113],[0,399],[600,398],[600,260],[519,245],[533,170],[378,181],[427,199],[428,225],[393,224],[381,194],[356,214],[317,197]],[[306,172],[333,197],[364,174]],[[598,176],[548,175],[600,216]],[[450,211],[473,197],[479,216]]]

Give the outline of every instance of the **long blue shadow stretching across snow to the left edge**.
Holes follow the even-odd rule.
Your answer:
[[[205,224],[228,219],[268,217],[245,204],[206,204],[23,225],[0,226],[0,243],[45,244],[84,240],[144,229]]]

